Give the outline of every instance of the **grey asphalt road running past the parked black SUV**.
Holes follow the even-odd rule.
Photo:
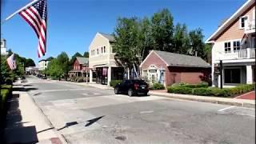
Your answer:
[[[158,96],[128,97],[27,78],[26,89],[70,143],[222,143],[255,141],[254,109]]]

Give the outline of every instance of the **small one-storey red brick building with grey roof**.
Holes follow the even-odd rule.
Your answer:
[[[202,58],[158,50],[151,50],[140,68],[143,78],[165,86],[179,82],[208,82],[210,76],[210,65]]]

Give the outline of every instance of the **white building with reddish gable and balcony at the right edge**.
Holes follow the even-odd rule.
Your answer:
[[[206,40],[212,44],[212,82],[223,86],[255,82],[255,0],[248,0]]]

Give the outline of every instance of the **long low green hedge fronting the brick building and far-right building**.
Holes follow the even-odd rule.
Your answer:
[[[243,84],[233,88],[219,89],[217,87],[199,87],[190,88],[186,86],[169,86],[167,91],[174,94],[194,94],[203,96],[216,96],[216,97],[234,97],[238,94],[243,94],[255,90],[255,86],[251,84]]]

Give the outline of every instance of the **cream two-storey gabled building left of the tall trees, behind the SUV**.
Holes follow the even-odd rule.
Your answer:
[[[114,36],[97,33],[89,46],[90,82],[110,85],[123,78],[123,68],[114,59]]]

